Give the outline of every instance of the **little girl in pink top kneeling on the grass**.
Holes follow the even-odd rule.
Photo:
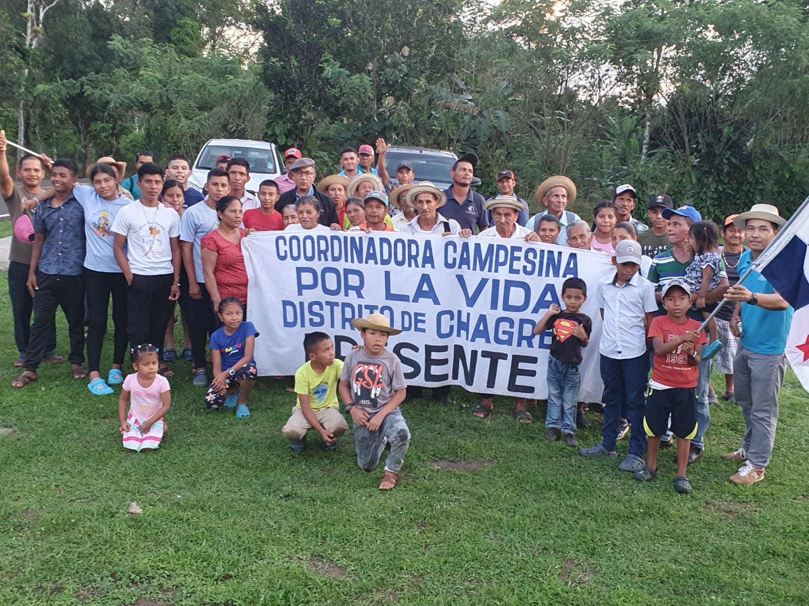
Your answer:
[[[138,345],[132,350],[132,368],[135,372],[124,380],[118,398],[118,420],[124,448],[136,452],[155,450],[163,440],[166,426],[163,415],[172,404],[172,394],[166,377],[159,375],[157,347]],[[129,401],[129,412],[126,402]]]

